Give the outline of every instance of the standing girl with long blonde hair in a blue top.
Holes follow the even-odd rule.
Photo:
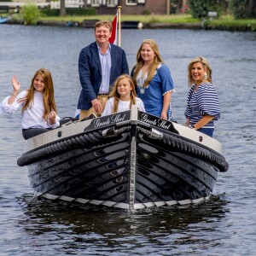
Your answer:
[[[162,119],[172,119],[171,99],[174,85],[169,68],[160,57],[153,39],[145,39],[137,51],[137,64],[131,71],[137,96],[147,113]]]

